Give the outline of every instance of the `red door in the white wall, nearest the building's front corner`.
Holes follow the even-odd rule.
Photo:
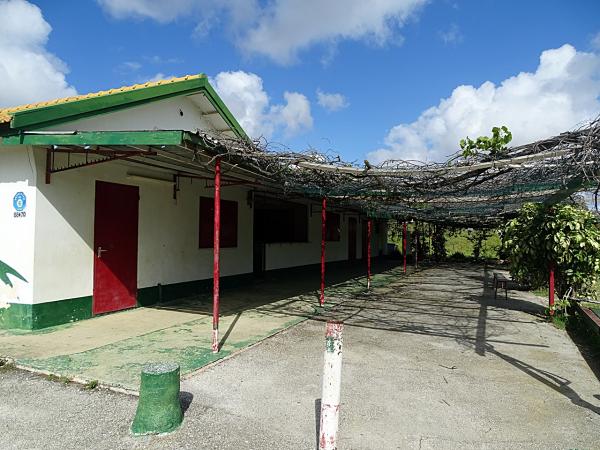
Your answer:
[[[96,181],[94,314],[136,305],[137,186]]]

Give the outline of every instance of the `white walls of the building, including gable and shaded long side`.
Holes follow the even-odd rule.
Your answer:
[[[224,122],[213,115],[206,99],[186,96],[129,108],[48,128],[51,131],[131,131],[215,129]],[[183,115],[181,114],[183,113]],[[212,118],[212,119],[211,119]],[[0,282],[0,307],[6,303],[44,303],[90,296],[93,292],[94,214],[96,180],[139,186],[138,288],[209,279],[212,248],[198,248],[199,198],[212,197],[204,181],[182,179],[175,201],[170,183],[128,178],[128,172],[170,179],[167,170],[126,162],[109,162],[54,174],[45,184],[43,148],[0,147],[0,261],[27,282],[11,277],[13,287]],[[57,166],[60,159],[57,156]],[[80,156],[73,156],[74,162]],[[238,246],[221,250],[222,276],[253,270],[253,210],[248,187],[223,187],[222,198],[238,202]],[[13,198],[27,198],[25,215],[16,217]],[[306,201],[306,204],[310,202]],[[310,208],[309,208],[310,210]],[[266,269],[320,261],[320,205],[309,217],[308,242],[268,244]],[[348,214],[341,216],[341,239],[327,242],[327,261],[348,259]],[[359,219],[358,215],[354,216]],[[361,220],[357,220],[356,256],[362,257]],[[373,255],[385,249],[385,235],[373,233]]]

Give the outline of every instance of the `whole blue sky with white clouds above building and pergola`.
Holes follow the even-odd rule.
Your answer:
[[[253,134],[359,162],[443,159],[496,124],[528,142],[600,113],[596,0],[32,0],[40,17],[26,3],[0,0],[23,18],[0,57],[23,46],[63,79],[21,95],[27,61],[0,62],[15,78],[0,105],[204,72]]]

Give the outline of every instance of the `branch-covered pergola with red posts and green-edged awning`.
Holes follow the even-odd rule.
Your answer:
[[[218,352],[220,192],[226,185],[254,185],[276,195],[321,203],[321,284],[325,304],[328,202],[367,216],[367,288],[371,287],[371,232],[375,218],[493,226],[526,202],[552,203],[592,185],[600,186],[600,122],[575,132],[508,149],[501,157],[444,164],[388,161],[357,167],[314,151],[272,151],[260,142],[178,130],[136,132],[20,132],[2,145],[46,149],[46,183],[52,175],[111,161],[173,172],[173,195],[181,178],[202,179],[214,188],[213,334]],[[65,161],[66,156],[66,161]],[[57,158],[62,161],[57,162]],[[212,185],[208,185],[212,181]],[[418,236],[417,236],[418,239]],[[418,256],[415,253],[415,264]],[[552,274],[551,274],[552,276]],[[552,280],[552,278],[551,278]]]

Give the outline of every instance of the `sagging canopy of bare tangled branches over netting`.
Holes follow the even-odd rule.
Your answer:
[[[455,154],[446,162],[390,160],[363,166],[332,152],[293,151],[199,132],[195,144],[289,195],[328,197],[372,216],[430,222],[498,223],[525,202],[554,202],[600,183],[600,119],[508,148],[501,156]],[[211,161],[208,161],[210,164]]]

